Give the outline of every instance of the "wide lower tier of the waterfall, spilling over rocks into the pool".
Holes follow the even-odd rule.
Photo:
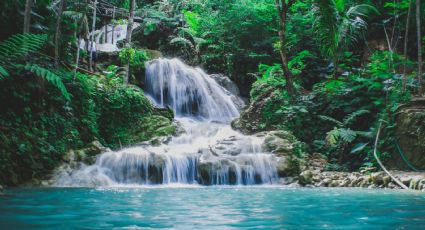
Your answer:
[[[160,146],[142,145],[101,154],[96,163],[59,170],[56,186],[121,184],[254,185],[277,182],[278,157],[263,139],[227,124],[179,119],[185,133]]]

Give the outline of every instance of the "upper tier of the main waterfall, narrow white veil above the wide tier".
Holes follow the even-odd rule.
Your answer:
[[[177,116],[229,122],[239,116],[232,94],[199,68],[178,59],[156,59],[146,65],[146,92]]]

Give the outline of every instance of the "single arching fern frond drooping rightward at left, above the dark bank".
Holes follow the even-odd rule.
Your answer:
[[[36,64],[27,64],[27,65],[25,65],[24,69],[31,71],[32,73],[34,73],[38,77],[42,77],[43,79],[48,81],[50,84],[52,84],[53,86],[58,88],[59,91],[61,92],[62,96],[66,100],[71,99],[71,95],[68,93],[68,90],[66,89],[65,85],[63,84],[62,79],[58,75],[53,73],[52,71],[50,71],[46,68],[40,67]]]

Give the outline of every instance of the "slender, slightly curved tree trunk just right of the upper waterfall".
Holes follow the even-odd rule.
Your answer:
[[[279,53],[280,58],[282,60],[282,69],[283,74],[286,80],[286,90],[288,91],[291,97],[295,94],[294,83],[292,80],[292,74],[289,70],[288,66],[288,55],[287,55],[287,47],[286,47],[286,23],[287,23],[287,13],[289,8],[291,8],[292,4],[294,4],[294,0],[289,0],[286,2],[285,0],[276,0],[276,9],[279,14]]]

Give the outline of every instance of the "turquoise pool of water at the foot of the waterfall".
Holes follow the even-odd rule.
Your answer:
[[[282,187],[8,190],[1,229],[425,229],[425,194]]]

